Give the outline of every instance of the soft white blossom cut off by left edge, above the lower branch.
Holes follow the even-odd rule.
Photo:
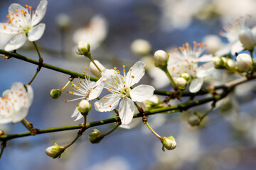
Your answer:
[[[33,89],[22,83],[14,83],[0,98],[0,123],[18,123],[28,115],[33,101]]]

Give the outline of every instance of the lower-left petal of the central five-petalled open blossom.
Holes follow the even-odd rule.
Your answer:
[[[101,98],[100,101],[95,102],[94,106],[96,111],[106,112],[113,111],[114,108],[117,108],[117,105],[121,98],[120,95],[108,94],[105,97],[106,99]]]

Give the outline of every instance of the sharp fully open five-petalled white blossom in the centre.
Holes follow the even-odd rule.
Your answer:
[[[102,80],[107,89],[112,94],[108,94],[100,101],[95,102],[96,111],[113,111],[117,108],[119,100],[119,117],[122,124],[127,125],[132,121],[135,105],[134,102],[142,102],[151,98],[154,93],[154,87],[149,85],[139,85],[131,89],[131,86],[137,84],[144,76],[144,62],[136,62],[124,76],[121,76],[116,69],[105,69],[102,72]],[[125,66],[123,66],[125,68]]]

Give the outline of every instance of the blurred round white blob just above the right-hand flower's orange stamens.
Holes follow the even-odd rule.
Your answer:
[[[215,55],[215,52],[220,50],[220,48],[223,46],[223,42],[217,35],[206,35],[203,38],[203,42],[206,43],[206,51],[209,54]]]

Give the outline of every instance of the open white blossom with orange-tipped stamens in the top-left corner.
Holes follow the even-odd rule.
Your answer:
[[[20,48],[26,42],[39,40],[46,28],[46,24],[40,23],[45,16],[48,1],[42,0],[35,8],[26,5],[25,8],[19,4],[11,4],[8,23],[0,23],[0,33],[15,35],[11,38],[4,50],[11,51]],[[36,26],[38,24],[38,26]]]

